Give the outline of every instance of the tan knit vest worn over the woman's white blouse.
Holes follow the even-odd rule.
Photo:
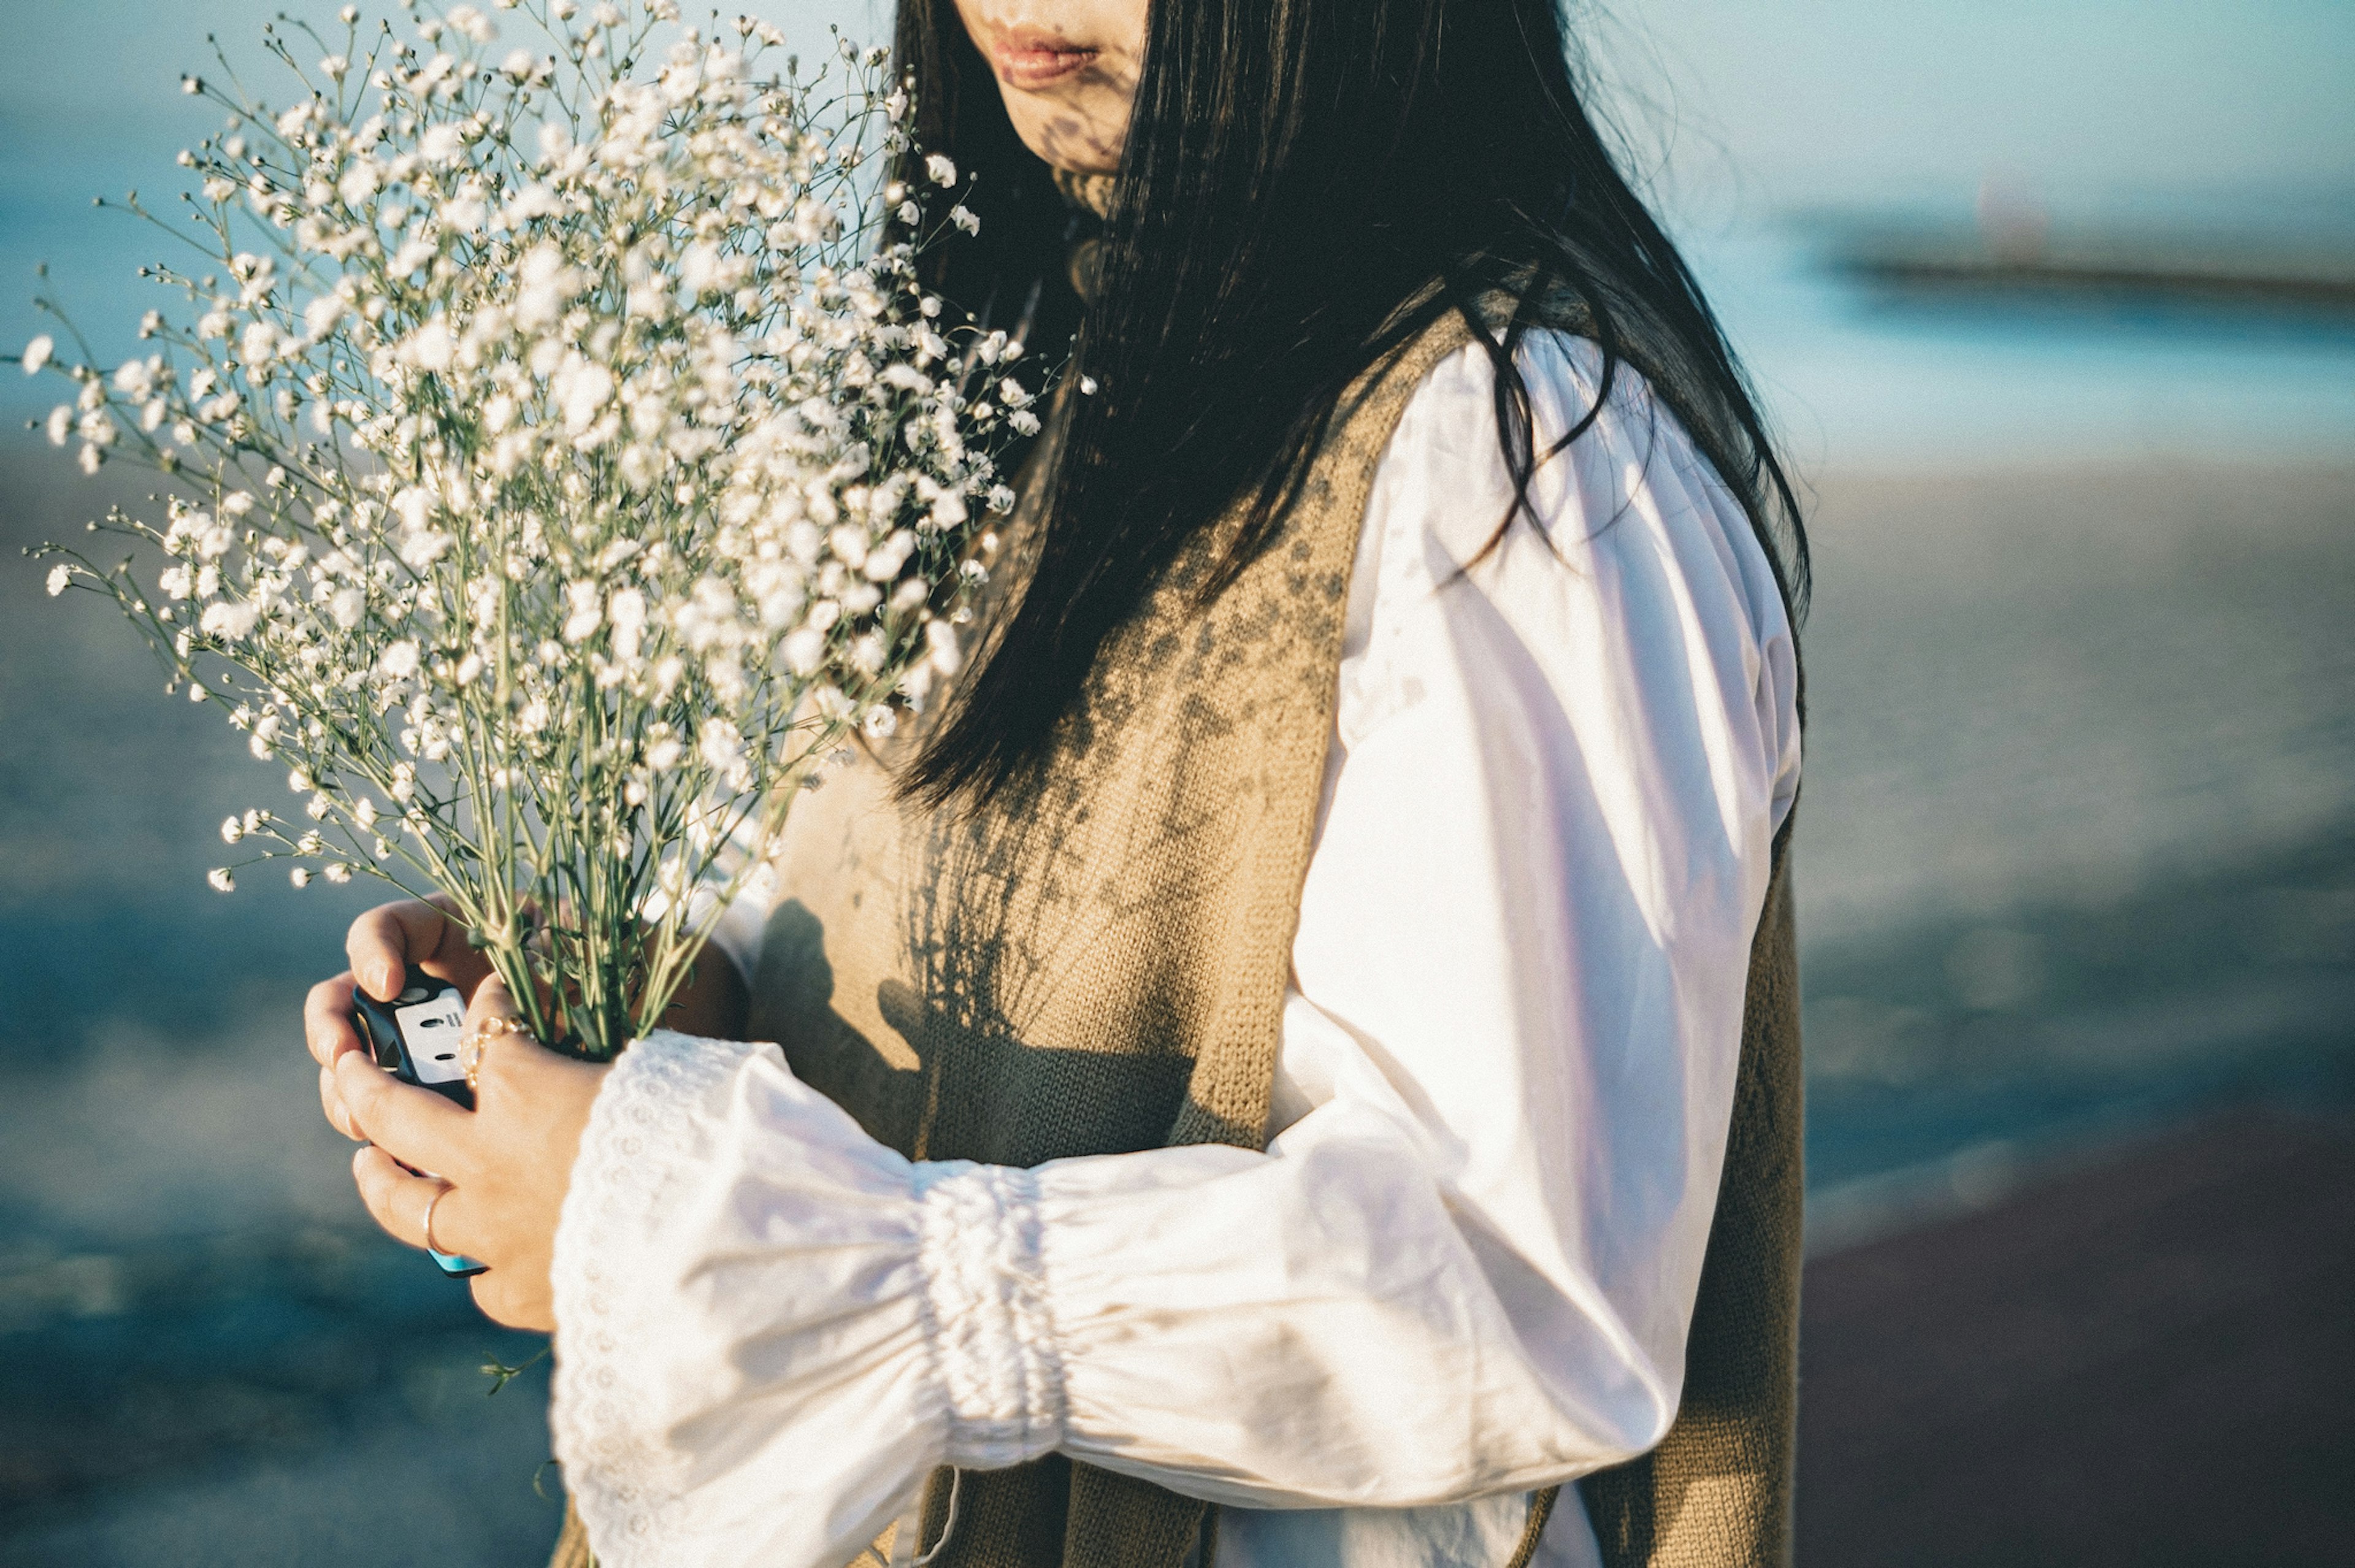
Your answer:
[[[1194,584],[1218,539],[1156,589],[1039,784],[935,812],[893,798],[883,756],[801,800],[751,1038],[909,1158],[1262,1147],[1368,487],[1413,388],[1467,341],[1444,315],[1342,398],[1274,544],[1208,607]],[[1684,1406],[1660,1448],[1583,1483],[1611,1568],[1787,1561],[1797,1257],[1778,841]],[[1206,1504],[1062,1455],[966,1471],[942,1542],[947,1514],[935,1476],[923,1544],[942,1568],[1178,1568],[1215,1547]],[[586,1556],[579,1535],[558,1563]]]

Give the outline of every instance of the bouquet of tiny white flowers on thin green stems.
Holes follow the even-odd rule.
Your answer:
[[[895,184],[883,52],[763,73],[761,21],[520,12],[546,49],[471,5],[273,31],[283,108],[188,78],[228,108],[167,226],[203,264],[151,271],[195,320],[21,363],[75,384],[47,431],[85,471],[170,476],[89,525],[132,558],[45,546],[49,593],[111,596],[301,796],[221,824],[214,885],[440,890],[542,1041],[610,1057],[796,789],[956,669],[991,450],[1036,414],[1020,346],[918,283],[975,221],[926,205],[944,158]]]

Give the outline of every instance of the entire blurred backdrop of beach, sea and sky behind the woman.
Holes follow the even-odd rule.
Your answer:
[[[0,341],[130,341],[207,31],[0,0]],[[323,0],[292,0],[292,9]],[[881,7],[768,0],[820,35]],[[1604,97],[1813,497],[1802,1563],[2355,1561],[2355,7],[1616,0]],[[160,301],[155,301],[160,304]],[[0,1563],[535,1563],[537,1344],[365,1227],[360,888],[19,544],[0,374]]]

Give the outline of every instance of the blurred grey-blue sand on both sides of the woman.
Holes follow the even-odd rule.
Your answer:
[[[0,1561],[528,1561],[544,1384],[480,1401],[518,1342],[360,1224],[301,1057],[372,895],[207,892],[283,779],[16,560],[108,487],[0,447]],[[1816,1267],[2218,1107],[2346,1104],[2355,469],[1816,490]],[[1882,1420],[1870,1380],[1806,1398]]]

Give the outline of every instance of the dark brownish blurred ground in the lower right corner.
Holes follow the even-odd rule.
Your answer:
[[[2207,1118],[1818,1260],[1799,1563],[2350,1563],[2350,1316],[2336,1118]]]

